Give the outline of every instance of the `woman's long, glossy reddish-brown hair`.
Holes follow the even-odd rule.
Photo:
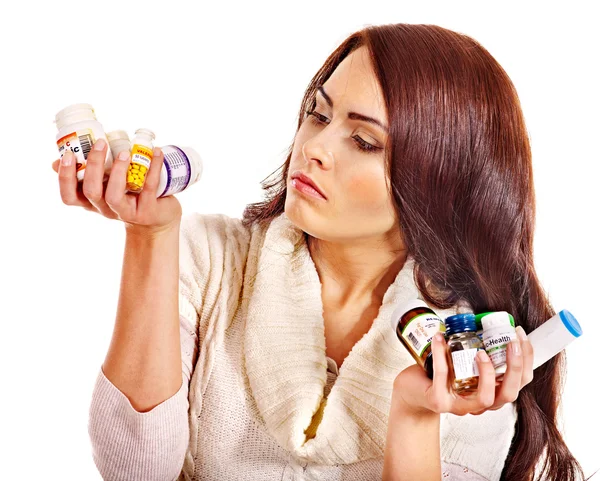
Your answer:
[[[387,172],[420,291],[441,309],[462,298],[475,312],[506,310],[531,332],[555,311],[533,263],[531,149],[510,78],[466,35],[436,25],[369,26],[348,37],[313,77],[298,128],[316,89],[363,45],[389,114]],[[292,149],[272,180],[262,182],[265,200],[246,207],[246,225],[284,212]],[[584,477],[557,427],[565,375],[563,351],[520,391],[502,480]]]

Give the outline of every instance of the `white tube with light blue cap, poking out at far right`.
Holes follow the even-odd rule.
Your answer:
[[[577,319],[566,309],[548,319],[527,335],[533,347],[533,369],[556,356],[582,334]]]

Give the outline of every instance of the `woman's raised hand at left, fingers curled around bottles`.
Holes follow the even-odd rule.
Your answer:
[[[100,149],[98,149],[100,148]],[[58,173],[60,196],[66,205],[83,207],[109,219],[125,223],[127,232],[155,236],[171,228],[179,228],[182,209],[172,195],[156,198],[164,154],[154,148],[152,162],[146,175],[144,188],[140,194],[126,193],[127,169],[130,163],[126,158],[114,159],[110,176],[104,179],[104,160],[108,144],[98,139],[89,152],[83,182],[77,181],[75,155],[67,151],[61,159],[53,162],[52,168]],[[70,165],[66,163],[70,160]],[[67,162],[65,162],[67,161]]]

